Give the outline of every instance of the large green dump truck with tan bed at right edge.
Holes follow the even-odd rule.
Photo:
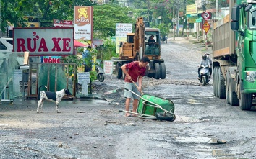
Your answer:
[[[249,110],[256,95],[256,1],[229,3],[229,14],[213,24],[213,93]]]

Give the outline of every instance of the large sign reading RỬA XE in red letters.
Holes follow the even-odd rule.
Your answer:
[[[73,55],[74,28],[14,28],[14,52],[29,52],[30,56]]]

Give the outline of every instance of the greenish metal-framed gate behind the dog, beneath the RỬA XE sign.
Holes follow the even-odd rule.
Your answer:
[[[47,91],[69,88],[72,96],[76,96],[76,68],[75,63],[30,63],[27,98],[37,99],[41,85],[47,86]],[[69,76],[70,71],[72,76]]]

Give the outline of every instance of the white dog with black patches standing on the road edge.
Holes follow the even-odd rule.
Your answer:
[[[66,94],[66,95],[71,95],[69,89],[67,88],[64,88],[64,89],[61,89],[61,91],[56,91],[56,92],[51,92],[51,91],[40,91],[40,88],[43,87],[43,86],[40,86],[39,87],[39,91],[40,94],[38,94],[38,110],[37,112],[39,113],[39,109],[41,109],[41,112],[43,110],[43,102],[44,101],[53,101],[56,103],[56,110],[57,110],[57,113],[60,113],[59,112],[59,102],[61,101],[61,99],[63,98],[63,96]],[[46,86],[44,86],[46,87]],[[47,88],[47,87],[46,87]]]

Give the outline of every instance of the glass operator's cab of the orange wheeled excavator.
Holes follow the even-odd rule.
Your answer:
[[[145,55],[152,59],[159,59],[161,53],[160,31],[157,28],[145,28]]]

